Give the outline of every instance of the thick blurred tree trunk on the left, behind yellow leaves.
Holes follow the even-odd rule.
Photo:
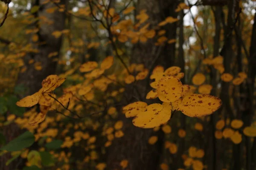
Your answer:
[[[45,0],[38,1],[38,5],[42,4]],[[61,4],[64,4],[65,0],[61,0]],[[24,57],[24,62],[27,67],[26,71],[20,73],[17,79],[17,84],[23,84],[28,90],[25,95],[31,95],[38,91],[41,88],[41,82],[50,74],[55,74],[57,61],[52,62],[52,59],[58,58],[58,55],[52,58],[49,58],[48,55],[52,52],[59,52],[61,48],[61,37],[55,38],[52,36],[53,31],[62,31],[64,29],[64,12],[59,12],[56,10],[54,13],[49,14],[46,12],[47,8],[55,6],[52,3],[47,3],[43,5],[43,9],[38,11],[36,17],[46,17],[47,20],[51,21],[51,24],[44,23],[41,20],[38,25],[38,37],[39,40],[36,45],[33,44],[33,48],[38,49],[38,53],[28,53]],[[35,70],[34,64],[29,64],[29,60],[34,59],[35,62],[41,62],[42,69],[40,71]],[[23,98],[24,96],[20,96]],[[17,125],[10,124],[3,128],[3,133],[6,136],[7,141],[9,142],[15,139],[20,135],[21,130]],[[15,170],[17,167],[21,166],[24,162],[21,159],[13,161],[9,166],[5,166],[6,161],[10,159],[10,154],[7,153],[5,156],[0,157],[0,169],[1,170]]]

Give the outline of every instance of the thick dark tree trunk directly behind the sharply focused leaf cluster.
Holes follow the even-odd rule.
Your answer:
[[[149,15],[148,23],[151,27],[156,27],[165,17],[177,17],[174,9],[177,7],[174,0],[139,0],[137,13],[146,9]],[[176,23],[168,24],[166,37],[169,39],[176,37]],[[131,63],[144,64],[145,68],[154,68],[156,65],[163,65],[165,68],[174,65],[175,43],[171,45],[156,46],[156,39],[148,40],[146,43],[138,43],[134,46]],[[168,48],[169,47],[169,48]],[[167,51],[168,50],[168,51]],[[144,102],[145,95],[150,91],[149,79],[137,82],[139,93]],[[137,93],[134,88],[127,91],[127,94]],[[135,102],[133,100],[131,102]],[[128,104],[128,103],[127,103]],[[124,122],[124,133],[121,139],[116,139],[108,150],[108,169],[121,169],[119,163],[123,159],[128,159],[128,169],[130,170],[157,170],[159,169],[161,153],[163,150],[164,135],[162,132],[154,132],[152,129],[142,129],[132,125],[131,119],[121,118]],[[158,136],[158,141],[154,145],[148,144],[150,136]]]

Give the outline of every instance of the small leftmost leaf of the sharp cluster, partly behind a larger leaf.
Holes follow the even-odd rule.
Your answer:
[[[125,107],[123,107],[123,110],[127,110],[125,112],[125,116],[126,117],[134,117],[136,116],[138,113],[140,113],[141,111],[145,111],[147,108],[147,103],[145,102],[134,102],[131,103],[129,105],[126,105]]]

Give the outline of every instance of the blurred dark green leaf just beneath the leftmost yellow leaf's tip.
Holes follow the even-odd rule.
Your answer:
[[[23,113],[25,112],[25,108],[17,106],[16,105],[17,101],[19,101],[19,99],[16,96],[14,95],[8,96],[7,98],[8,109],[12,114],[15,114],[16,116],[23,116]]]

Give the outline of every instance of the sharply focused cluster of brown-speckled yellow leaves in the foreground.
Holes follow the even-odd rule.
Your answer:
[[[182,75],[182,76],[180,76]],[[165,71],[163,67],[154,68],[150,78],[155,79],[150,85],[155,88],[146,99],[159,98],[163,104],[147,105],[145,102],[134,102],[123,108],[126,117],[134,117],[133,124],[142,128],[153,128],[165,124],[171,113],[182,111],[190,117],[206,116],[221,106],[218,97],[209,94],[191,94],[189,85],[182,85],[180,68],[173,66]],[[204,82],[200,81],[199,84]],[[181,131],[180,136],[184,136]]]

